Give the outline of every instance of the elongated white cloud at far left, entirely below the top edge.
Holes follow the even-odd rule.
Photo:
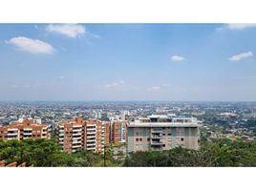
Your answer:
[[[54,48],[52,45],[38,39],[27,38],[24,36],[13,37],[6,42],[13,45],[20,51],[28,53],[51,54],[54,52]]]

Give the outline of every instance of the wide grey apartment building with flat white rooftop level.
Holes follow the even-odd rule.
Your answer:
[[[200,125],[194,117],[139,117],[128,125],[127,151],[161,151],[179,146],[197,150]]]

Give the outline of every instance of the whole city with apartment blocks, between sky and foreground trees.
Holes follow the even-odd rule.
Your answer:
[[[52,138],[66,153],[86,150],[103,155],[111,147],[118,165],[137,151],[198,150],[202,141],[216,138],[245,142],[256,138],[256,102],[2,101],[0,105],[2,140]]]

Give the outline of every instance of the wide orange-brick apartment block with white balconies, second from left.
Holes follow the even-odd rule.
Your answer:
[[[77,150],[104,152],[109,145],[109,122],[97,119],[63,121],[57,125],[57,142],[63,151],[73,153]]]

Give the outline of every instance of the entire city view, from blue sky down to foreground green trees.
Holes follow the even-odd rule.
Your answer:
[[[255,30],[0,24],[0,166],[256,166]]]

